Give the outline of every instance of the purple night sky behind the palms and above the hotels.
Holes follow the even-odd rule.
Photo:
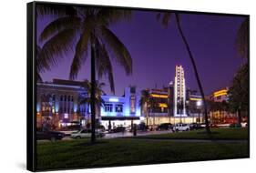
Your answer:
[[[127,86],[138,89],[167,86],[174,79],[176,65],[185,71],[186,86],[197,89],[188,53],[182,43],[175,21],[164,28],[156,19],[157,12],[134,11],[130,21],[112,25],[110,29],[127,46],[133,60],[133,74],[126,76],[124,70],[113,63],[116,95],[122,95]],[[52,17],[37,18],[37,36]],[[236,33],[243,21],[242,16],[224,15],[180,15],[183,32],[188,39],[195,57],[205,94],[214,89],[230,86],[235,71],[242,59],[237,55],[234,43]],[[38,44],[39,46],[42,46]],[[51,71],[42,73],[44,81],[53,78],[68,79],[71,60],[70,53],[63,62]],[[90,61],[81,68],[77,80],[90,76]],[[109,91],[108,80],[104,90]]]

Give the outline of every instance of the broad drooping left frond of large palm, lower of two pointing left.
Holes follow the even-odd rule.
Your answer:
[[[56,66],[59,60],[64,58],[72,50],[72,43],[76,36],[76,29],[65,29],[56,36],[49,39],[43,46],[40,58],[47,62],[49,66]]]

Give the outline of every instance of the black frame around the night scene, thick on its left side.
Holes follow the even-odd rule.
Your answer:
[[[249,28],[250,28],[250,15],[238,15],[238,14],[223,14],[223,13],[208,13],[208,12],[195,12],[195,11],[180,11],[180,10],[166,10],[166,9],[151,9],[151,8],[141,8],[141,7],[123,7],[123,6],[108,6],[108,5],[83,5],[83,4],[66,4],[66,3],[51,3],[51,2],[32,2],[27,4],[27,16],[26,16],[26,32],[27,32],[27,71],[26,71],[26,168],[30,171],[38,171],[36,168],[36,5],[76,5],[83,7],[108,7],[115,9],[130,9],[130,10],[141,10],[141,11],[156,11],[156,12],[179,12],[182,14],[203,14],[203,15],[224,15],[224,16],[244,16],[248,17]],[[250,31],[249,31],[250,38]],[[249,49],[249,70],[250,70],[250,39],[248,43]],[[250,78],[250,75],[249,75]],[[249,80],[250,86],[250,80]],[[248,91],[250,95],[250,90]],[[250,97],[249,97],[250,102]],[[248,157],[250,158],[250,107],[249,107],[249,117],[248,117]],[[221,159],[221,158],[220,158]],[[226,159],[226,158],[224,158]],[[229,158],[230,159],[230,158]],[[203,161],[203,160],[189,160],[189,161]],[[184,161],[182,161],[184,162]],[[146,163],[148,164],[161,164],[157,163]],[[167,162],[169,163],[169,162]],[[109,167],[119,167],[119,166],[134,166],[134,164],[129,165],[111,165]],[[82,167],[90,168],[90,167]],[[105,167],[93,167],[93,168],[105,168]],[[62,169],[74,169],[74,168],[57,168],[57,170]],[[75,168],[76,169],[76,168]],[[52,170],[52,169],[46,169]],[[56,169],[54,169],[56,170]],[[39,170],[41,171],[41,169]]]

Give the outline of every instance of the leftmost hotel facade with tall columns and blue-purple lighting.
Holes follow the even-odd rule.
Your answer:
[[[87,97],[87,91],[81,82],[54,79],[37,83],[36,127],[60,128],[84,122],[88,107],[79,104],[82,97]]]

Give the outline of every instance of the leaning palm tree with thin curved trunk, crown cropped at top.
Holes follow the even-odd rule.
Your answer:
[[[199,72],[198,72],[198,69],[197,69],[197,66],[196,66],[195,59],[194,59],[194,57],[192,55],[192,52],[191,52],[190,47],[189,47],[189,43],[188,43],[186,37],[184,36],[182,28],[181,28],[181,25],[180,25],[180,16],[177,13],[159,13],[157,15],[157,18],[158,18],[158,20],[161,20],[162,25],[167,27],[169,25],[169,19],[170,19],[171,15],[174,15],[174,17],[176,19],[176,24],[178,25],[179,34],[180,34],[180,36],[182,38],[183,43],[185,44],[185,47],[186,47],[187,52],[189,54],[189,59],[191,61],[193,69],[194,69],[196,80],[197,80],[198,86],[200,88],[200,95],[201,95],[202,101],[203,101],[205,125],[206,125],[205,127],[206,127],[207,133],[210,134],[209,119],[208,119],[208,112],[207,112],[207,104],[206,104],[206,99],[205,99],[205,96],[204,96],[204,91],[203,91],[203,88],[202,88],[202,85],[201,85],[201,82],[200,82],[200,76],[199,76]]]

